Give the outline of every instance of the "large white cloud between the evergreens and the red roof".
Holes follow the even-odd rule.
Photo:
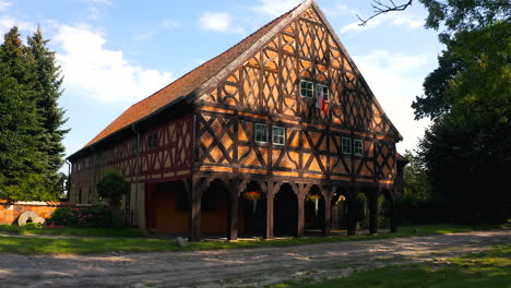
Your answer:
[[[99,104],[132,104],[171,82],[169,72],[131,64],[122,51],[105,48],[105,37],[87,26],[60,25],[54,40],[67,91]]]

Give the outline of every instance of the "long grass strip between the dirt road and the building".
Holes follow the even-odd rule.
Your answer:
[[[335,236],[335,237],[314,237],[314,238],[292,238],[283,240],[242,240],[242,241],[201,241],[193,242],[190,245],[181,248],[176,247],[173,240],[164,239],[144,239],[144,238],[118,238],[141,236],[140,230],[131,229],[41,229],[41,228],[21,228],[5,226],[0,230],[9,230],[17,233],[48,233],[58,236],[112,236],[116,238],[80,238],[80,239],[51,239],[51,238],[27,238],[27,237],[3,237],[0,238],[0,252],[12,252],[21,254],[88,254],[105,253],[110,251],[118,252],[150,252],[150,251],[192,251],[192,250],[216,250],[233,248],[257,248],[257,247],[288,247],[300,244],[316,244],[342,241],[361,241],[375,239],[389,239],[411,236],[441,235],[450,232],[466,232],[476,229],[488,229],[488,226],[467,226],[467,225],[423,225],[416,226],[417,233],[413,233],[413,227],[403,227],[399,233],[381,233],[377,236]]]

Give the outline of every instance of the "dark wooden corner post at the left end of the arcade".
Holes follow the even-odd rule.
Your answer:
[[[188,238],[190,239],[190,241],[199,241],[201,239],[201,179],[192,179],[192,184],[190,185],[190,191],[188,191],[188,195],[190,199]]]

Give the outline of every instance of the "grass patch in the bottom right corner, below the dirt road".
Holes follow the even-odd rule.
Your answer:
[[[444,263],[428,262],[393,265],[373,271],[356,272],[350,276],[312,284],[307,278],[286,281],[272,288],[399,288],[399,287],[511,287],[511,244],[496,245],[484,253],[452,257]]]

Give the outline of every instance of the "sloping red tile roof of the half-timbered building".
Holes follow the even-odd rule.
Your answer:
[[[174,81],[173,83],[156,92],[155,94],[132,105],[121,116],[114,120],[114,122],[111,122],[107,128],[105,128],[105,130],[103,130],[93,140],[91,140],[91,142],[88,142],[85,145],[85,147],[97,143],[98,141],[107,137],[108,135],[132,123],[135,123],[136,121],[147,116],[151,116],[152,113],[163,108],[165,105],[171,103],[173,100],[179,98],[180,96],[187,96],[193,91],[198,89],[199,87],[201,87],[202,84],[204,84],[211,77],[215,76],[219,71],[222,71],[223,68],[225,68],[228,63],[238,58],[242,52],[250,48],[255,41],[258,41],[263,35],[265,35],[270,29],[277,25],[282,20],[284,20],[298,7],[294,8],[293,10],[283,14],[282,16],[273,20],[272,22],[270,22],[259,31],[254,32],[247,38],[242,39],[240,43],[233,46],[225,52],[211,59],[210,61],[203,63],[194,70],[188,72],[182,77]]]

